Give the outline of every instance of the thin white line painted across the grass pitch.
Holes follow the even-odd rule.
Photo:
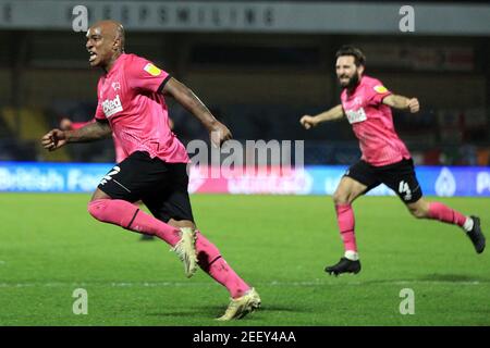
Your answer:
[[[411,285],[411,284],[436,284],[436,285],[483,285],[490,282],[478,281],[366,281],[366,282],[259,282],[256,286],[279,286],[279,287],[302,287],[302,286],[366,286],[366,285]],[[70,283],[70,282],[47,282],[47,283],[0,283],[0,288],[22,288],[22,287],[88,287],[88,286],[110,286],[110,287],[203,287],[211,286],[212,282],[87,282],[87,283]]]

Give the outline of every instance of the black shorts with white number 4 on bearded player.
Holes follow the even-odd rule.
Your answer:
[[[365,192],[384,184],[394,190],[405,203],[416,202],[422,196],[412,159],[382,166],[373,166],[360,160],[348,169],[345,176],[366,185]]]

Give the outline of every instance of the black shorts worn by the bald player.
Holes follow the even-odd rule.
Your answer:
[[[187,164],[167,163],[136,151],[114,165],[98,188],[112,199],[142,200],[155,217],[194,222],[187,192]]]

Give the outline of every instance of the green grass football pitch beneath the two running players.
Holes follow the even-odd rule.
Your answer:
[[[413,219],[397,198],[354,203],[363,271],[331,277],[342,254],[331,197],[194,196],[203,233],[262,298],[221,323],[228,291],[185,278],[160,241],[95,221],[88,195],[1,194],[0,325],[489,325],[490,250],[454,226]],[[490,199],[439,199],[481,217]],[[72,311],[76,288],[88,314]],[[415,314],[402,315],[403,288]]]

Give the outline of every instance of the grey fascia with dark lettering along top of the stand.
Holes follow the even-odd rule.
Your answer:
[[[84,11],[78,11],[81,7]],[[76,9],[75,9],[76,8]],[[417,3],[416,29],[432,35],[488,35],[490,8],[482,4]],[[65,29],[82,13],[113,18],[133,32],[210,30],[269,33],[400,33],[402,3],[342,1],[85,1],[0,0],[0,28]],[[33,15],[35,13],[36,15]],[[457,13],[457,16],[455,16]],[[363,18],[363,21],[359,21]]]

